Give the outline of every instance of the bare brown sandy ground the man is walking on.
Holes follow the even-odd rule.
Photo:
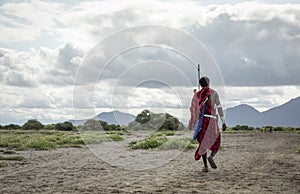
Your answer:
[[[25,161],[0,168],[0,193],[300,193],[300,134],[222,134],[208,173],[194,150],[132,151],[134,138],[19,152]]]

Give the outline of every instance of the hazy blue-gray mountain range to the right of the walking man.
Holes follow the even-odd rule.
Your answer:
[[[264,112],[245,104],[229,108],[226,110],[226,122],[228,126],[300,127],[300,97]]]

